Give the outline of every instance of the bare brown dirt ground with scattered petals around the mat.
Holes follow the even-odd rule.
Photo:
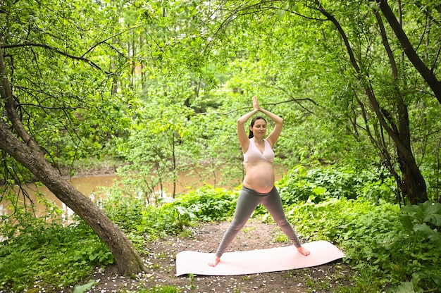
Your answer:
[[[88,292],[146,292],[154,286],[175,286],[180,292],[335,292],[337,287],[349,284],[350,269],[341,261],[323,266],[273,273],[234,276],[183,275],[176,277],[175,259],[180,251],[213,252],[228,222],[203,223],[192,227],[185,236],[157,239],[146,244],[144,257],[149,272],[136,278],[120,276],[114,266],[97,268],[90,279],[97,280]],[[275,242],[280,238],[279,228],[251,219],[230,245],[228,251],[266,249],[290,245]],[[227,252],[228,252],[227,251]]]

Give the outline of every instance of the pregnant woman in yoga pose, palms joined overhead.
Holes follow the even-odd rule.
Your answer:
[[[261,112],[274,121],[273,131],[266,137],[266,120],[256,116],[251,120],[249,136],[245,132],[244,124],[257,112]],[[278,190],[274,186],[275,177],[273,170],[274,151],[273,146],[282,132],[283,120],[279,116],[266,111],[259,106],[256,96],[253,96],[253,111],[244,114],[237,120],[237,137],[244,155],[244,166],[247,175],[244,177],[242,191],[237,199],[235,216],[230,226],[225,231],[221,244],[219,244],[216,256],[209,266],[217,266],[225,249],[235,239],[237,233],[247,223],[249,217],[259,204],[263,204],[273,216],[275,223],[282,232],[292,241],[292,244],[304,256],[310,254],[309,250],[302,247],[292,230],[292,226],[285,217],[282,201]]]

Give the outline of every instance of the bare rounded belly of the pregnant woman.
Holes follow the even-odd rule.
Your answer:
[[[273,163],[268,161],[247,163],[245,170],[247,172],[243,182],[245,187],[261,193],[271,192],[275,181]]]

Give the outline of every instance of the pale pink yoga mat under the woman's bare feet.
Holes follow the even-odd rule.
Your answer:
[[[320,266],[344,257],[344,253],[327,241],[302,244],[311,251],[303,256],[294,246],[227,252],[216,267],[208,265],[214,254],[182,251],[176,255],[176,275],[248,275]]]

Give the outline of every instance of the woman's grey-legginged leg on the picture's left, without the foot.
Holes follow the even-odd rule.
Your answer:
[[[256,209],[256,206],[260,204],[262,199],[263,197],[256,195],[254,190],[242,187],[237,199],[235,216],[223,235],[221,244],[219,244],[218,250],[216,251],[216,257],[220,258],[222,256],[225,249],[227,249],[232,240],[235,239],[237,233],[247,223],[249,217]]]

